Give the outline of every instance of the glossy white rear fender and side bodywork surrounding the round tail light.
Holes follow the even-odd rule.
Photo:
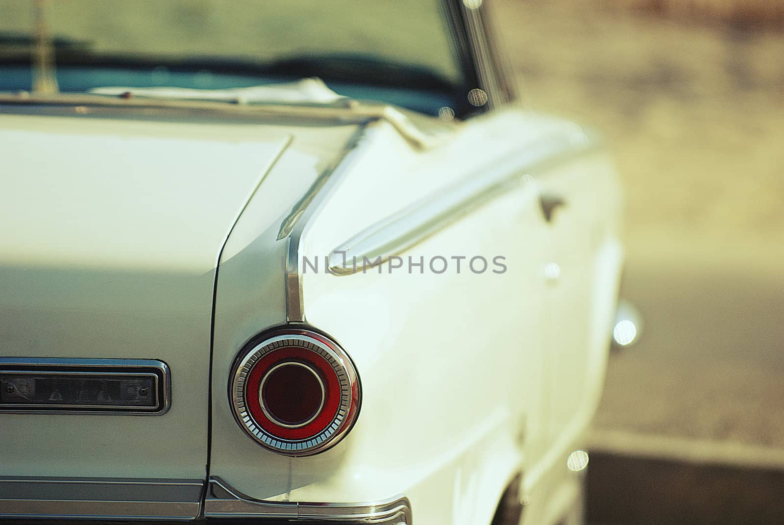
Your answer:
[[[308,268],[302,275],[307,322],[336,337],[361,375],[358,424],[332,450],[284,458],[245,436],[231,420],[227,399],[216,396],[211,474],[254,498],[374,501],[405,494],[419,523],[489,523],[504,487],[523,471],[532,475],[528,482],[524,477],[524,490],[550,487],[536,490],[529,514],[565,512],[567,495],[576,494],[565,458],[598,399],[617,292],[619,199],[604,158],[593,155],[534,173],[535,184],[520,184],[403,254],[425,261],[439,255],[492,261],[500,255],[507,266],[501,275],[476,275],[465,260],[460,274],[389,272],[385,265],[381,275],[374,269],[335,276],[325,272],[324,259],[369,224],[464,177],[498,170],[498,159],[572,127],[523,111],[496,112],[466,122],[441,147],[417,152],[386,123],[368,126],[299,253],[319,261],[318,272]],[[278,201],[265,189],[295,172],[298,181],[316,174],[304,170],[307,157],[287,155],[230,236],[227,252],[234,258],[223,258],[215,392],[225,390],[231,361],[245,341],[283,320],[280,257],[287,246],[276,240],[279,224],[268,223],[275,217],[269,206]],[[586,186],[574,190],[586,196],[558,186],[570,177]],[[561,233],[557,222],[543,220],[536,188],[545,186],[568,191],[581,206],[576,210],[587,210],[586,202],[596,199],[595,210]],[[281,221],[287,210],[278,206],[273,209]],[[239,248],[232,248],[235,235]],[[570,242],[579,242],[584,266],[563,257]],[[561,262],[563,290],[545,278],[553,261]],[[568,297],[584,310],[565,310],[572,308]],[[563,339],[568,327],[558,319],[565,315],[577,315],[575,326],[584,327],[576,348]],[[579,362],[578,372],[561,370],[570,361]],[[569,381],[574,384],[565,392]]]

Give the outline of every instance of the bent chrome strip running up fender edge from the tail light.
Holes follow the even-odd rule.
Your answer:
[[[299,268],[299,251],[304,235],[310,228],[313,219],[321,211],[328,195],[343,178],[347,165],[350,163],[350,157],[356,155],[358,144],[364,133],[365,126],[360,126],[343,148],[343,152],[332,162],[332,166],[321,173],[321,176],[307,191],[307,195],[299,200],[281,225],[278,239],[289,236],[285,261],[286,321],[289,323],[305,323],[306,321],[302,273]]]

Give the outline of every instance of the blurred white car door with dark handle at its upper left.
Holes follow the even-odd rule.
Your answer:
[[[543,173],[539,187],[554,246],[546,265],[550,435],[569,447],[593,416],[604,379],[621,261],[619,186],[606,156],[586,144],[583,154]]]

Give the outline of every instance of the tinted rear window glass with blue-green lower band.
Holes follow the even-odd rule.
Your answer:
[[[0,89],[31,89],[41,29],[62,91],[318,76],[437,114],[463,111],[473,87],[443,0],[0,0]]]

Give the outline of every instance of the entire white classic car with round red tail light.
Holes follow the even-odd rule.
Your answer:
[[[579,520],[619,184],[486,3],[0,0],[2,520]]]

